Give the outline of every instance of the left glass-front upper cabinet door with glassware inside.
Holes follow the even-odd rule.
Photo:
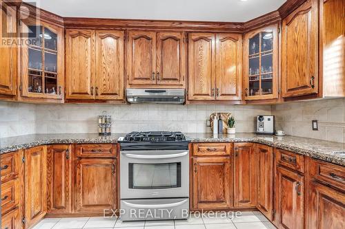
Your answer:
[[[21,96],[63,98],[63,29],[45,23],[22,25]]]

